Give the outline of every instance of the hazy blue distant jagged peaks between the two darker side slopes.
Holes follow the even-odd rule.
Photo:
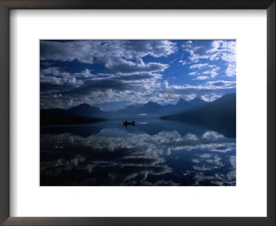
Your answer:
[[[194,99],[193,101],[185,101],[184,99],[179,99],[175,105],[159,105],[153,101],[149,101],[142,107],[135,107],[133,105],[126,107],[124,110],[118,110],[115,112],[110,112],[113,116],[125,116],[125,115],[137,115],[137,114],[148,114],[148,115],[164,115],[164,114],[174,114],[176,112],[181,112],[188,110],[196,105],[201,105],[207,103],[201,99]]]

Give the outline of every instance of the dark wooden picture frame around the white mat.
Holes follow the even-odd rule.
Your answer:
[[[275,6],[275,0],[0,0],[0,223],[3,225],[275,225]],[[266,9],[267,217],[10,217],[10,9]]]

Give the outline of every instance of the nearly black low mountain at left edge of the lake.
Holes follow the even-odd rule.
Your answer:
[[[98,107],[92,107],[86,103],[72,107],[68,110],[59,108],[40,110],[41,125],[77,125],[86,123],[95,123],[110,119],[108,112],[99,110]]]

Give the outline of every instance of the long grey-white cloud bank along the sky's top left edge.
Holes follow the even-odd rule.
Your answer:
[[[42,61],[82,63],[106,61],[110,56],[137,59],[147,55],[168,56],[177,51],[172,41],[41,41]]]

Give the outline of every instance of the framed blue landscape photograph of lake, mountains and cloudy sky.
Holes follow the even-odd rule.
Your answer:
[[[39,41],[40,186],[236,186],[236,40]]]

